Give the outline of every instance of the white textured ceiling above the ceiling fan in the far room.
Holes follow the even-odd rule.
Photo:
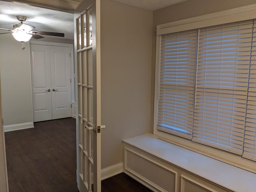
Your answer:
[[[74,39],[74,18],[71,13],[34,7],[20,2],[0,1],[0,28],[13,29],[13,24],[20,23],[16,15],[28,17],[24,23],[34,26],[36,31],[64,33],[65,37],[58,38]],[[2,32],[7,31],[0,30],[0,33]]]

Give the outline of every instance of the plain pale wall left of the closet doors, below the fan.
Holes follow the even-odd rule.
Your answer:
[[[0,72],[4,125],[33,122],[29,44],[0,36]]]

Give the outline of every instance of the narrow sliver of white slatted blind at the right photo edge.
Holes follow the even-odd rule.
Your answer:
[[[256,160],[256,21],[253,24],[252,54],[246,113],[243,157]]]

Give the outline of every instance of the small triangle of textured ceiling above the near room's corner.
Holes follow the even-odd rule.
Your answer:
[[[154,11],[174,4],[178,4],[187,0],[113,0],[123,4],[139,7],[142,9]]]

